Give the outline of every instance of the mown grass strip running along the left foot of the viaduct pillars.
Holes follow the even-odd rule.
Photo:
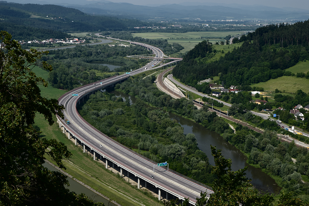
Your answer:
[[[32,71],[35,72],[37,76],[44,79],[48,77],[48,72],[39,67],[35,67]],[[41,89],[41,95],[48,99],[58,99],[61,95],[66,93],[65,90],[59,90],[52,86],[45,88],[39,85],[39,87]],[[57,121],[55,116],[54,121]],[[67,168],[65,171],[74,178],[89,185],[122,206],[162,205],[161,202],[155,201],[155,198],[152,199],[144,195],[143,193],[145,192],[143,190],[139,190],[141,192],[138,192],[137,189],[128,185],[123,179],[118,178],[117,175],[106,170],[105,166],[99,161],[93,161],[93,157],[88,153],[83,153],[80,147],[75,146],[75,144],[62,133],[57,123],[50,126],[44,119],[44,116],[38,113],[35,117],[35,124],[40,127],[42,137],[47,139],[54,138],[57,141],[63,142],[67,146],[67,149],[73,153],[70,160],[65,160],[64,164]],[[53,162],[47,155],[45,158]]]

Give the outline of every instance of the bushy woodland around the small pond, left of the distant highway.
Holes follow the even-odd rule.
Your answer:
[[[104,61],[124,64],[114,69],[114,72],[129,72],[145,65],[148,60],[126,58],[132,54],[149,54],[150,51],[138,45],[112,46],[109,45],[86,45],[74,48],[58,49],[49,51],[49,55],[41,60],[47,61],[53,66],[49,72],[48,81],[51,86],[59,89],[71,90],[81,84],[96,82],[111,76],[107,66],[91,64],[93,61]],[[105,72],[106,74],[96,74]],[[117,75],[116,73],[115,75]]]

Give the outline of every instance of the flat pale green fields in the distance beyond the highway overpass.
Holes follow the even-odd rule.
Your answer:
[[[186,33],[164,33],[164,32],[148,32],[148,33],[132,33],[133,37],[140,36],[146,39],[167,39],[169,44],[178,43],[184,47],[181,53],[190,51],[199,42],[209,39],[210,42],[215,44],[216,42],[225,41],[228,35],[235,36],[239,32],[186,32]],[[178,39],[177,39],[178,38]],[[203,38],[203,39],[201,39]],[[221,39],[219,39],[221,38]],[[222,46],[222,45],[220,45]]]

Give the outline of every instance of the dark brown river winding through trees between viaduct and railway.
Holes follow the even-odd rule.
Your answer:
[[[112,91],[116,97],[129,97],[134,103],[135,97],[131,97],[119,91]],[[262,172],[260,168],[255,168],[250,166],[246,160],[247,157],[236,147],[232,146],[230,143],[226,142],[223,137],[215,132],[211,132],[200,124],[197,124],[191,120],[185,119],[181,116],[169,113],[171,119],[177,120],[177,122],[184,128],[184,133],[192,133],[195,135],[198,143],[198,147],[206,153],[209,158],[209,163],[214,166],[214,158],[211,155],[210,145],[216,146],[217,149],[222,149],[222,155],[225,158],[230,158],[232,160],[232,170],[243,169],[248,166],[246,171],[246,177],[252,179],[252,184],[259,190],[268,192],[279,192],[281,187],[277,186],[277,183],[268,174]]]

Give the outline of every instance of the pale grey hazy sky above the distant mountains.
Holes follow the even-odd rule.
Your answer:
[[[282,7],[293,7],[293,8],[303,8],[309,9],[309,2],[308,0],[108,0],[111,2],[127,2],[132,3],[135,5],[151,5],[151,4],[173,4],[173,3],[180,3],[180,2],[212,2],[212,3],[225,3],[225,4],[243,4],[243,5],[264,5],[264,6],[273,6],[277,8]]]

